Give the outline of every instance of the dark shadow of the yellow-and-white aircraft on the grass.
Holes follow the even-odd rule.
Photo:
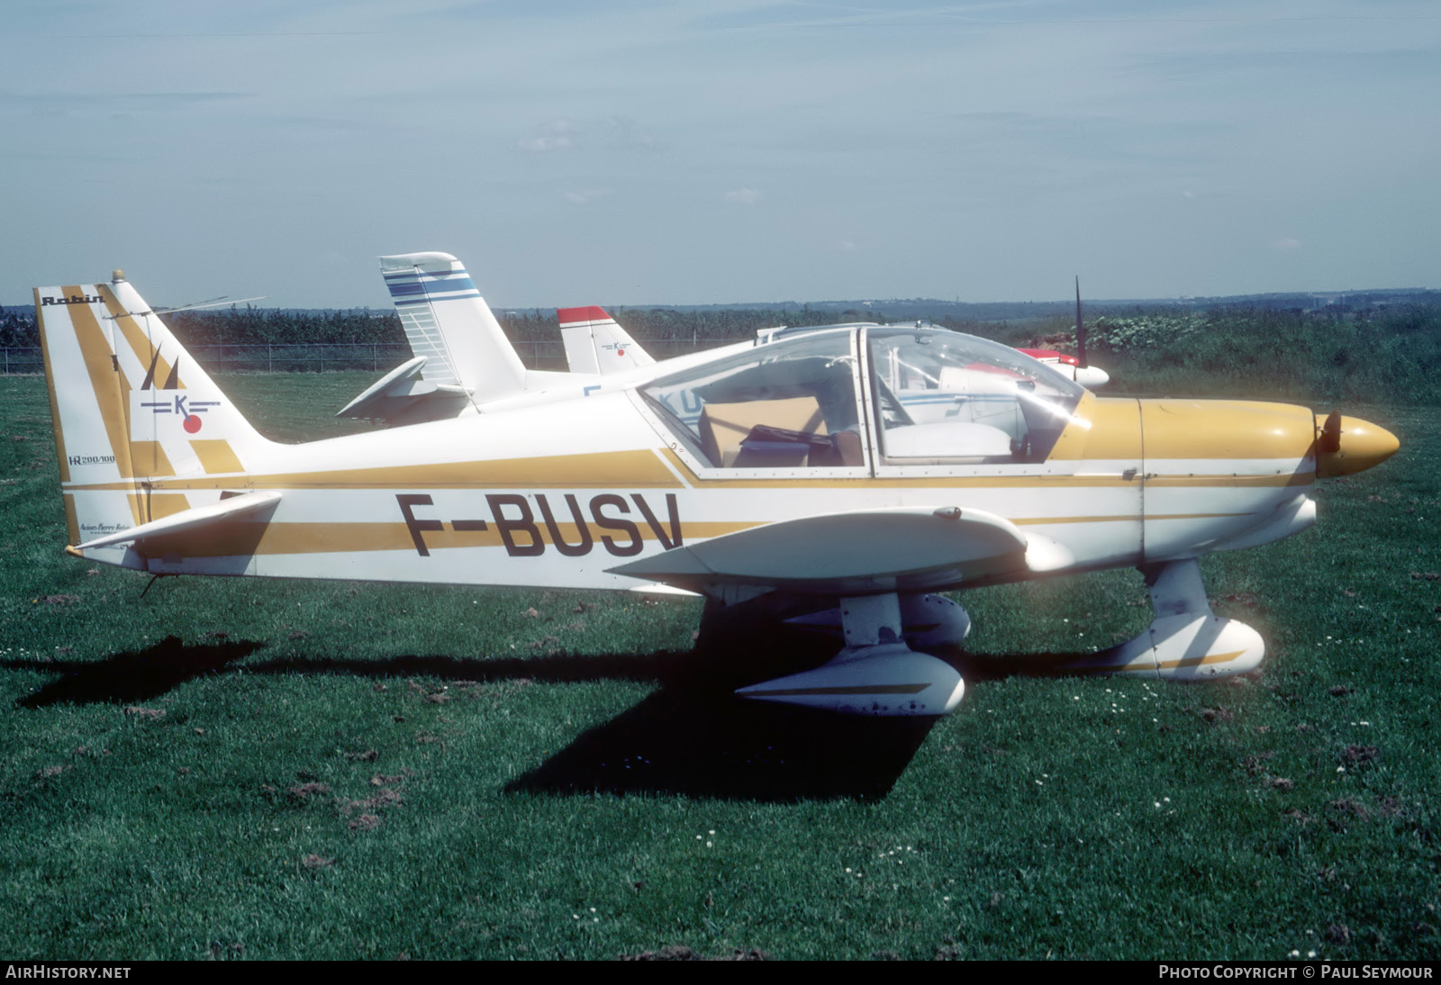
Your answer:
[[[190,680],[236,670],[265,647],[256,641],[184,644],[170,637],[104,661],[0,661],[14,670],[58,674],[16,707],[135,704]],[[968,681],[1055,675],[1081,654],[951,657]],[[585,683],[659,681],[660,687],[614,719],[588,729],[506,792],[674,793],[762,802],[880,799],[906,769],[934,719],[867,719],[736,698],[732,688],[768,674],[826,660],[824,648],[791,639],[781,651],[744,657],[713,652],[620,655],[556,654],[532,658],[406,655],[391,660],[285,657],[244,664],[246,674],[336,674],[375,680]]]

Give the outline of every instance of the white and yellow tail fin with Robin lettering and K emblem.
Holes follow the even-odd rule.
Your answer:
[[[35,314],[69,543],[105,541],[85,556],[141,567],[120,534],[210,504],[223,477],[244,488],[269,442],[120,271],[36,288]]]

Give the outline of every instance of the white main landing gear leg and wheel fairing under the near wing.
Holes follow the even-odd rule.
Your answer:
[[[965,684],[955,668],[902,639],[901,599],[893,592],[842,599],[840,622],[846,647],[830,662],[736,694],[883,716],[945,714],[960,703]]]

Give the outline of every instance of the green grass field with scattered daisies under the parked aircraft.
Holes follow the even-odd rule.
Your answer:
[[[367,382],[223,384],[297,439]],[[1140,576],[987,589],[914,723],[726,697],[690,601],[147,589],[62,553],[3,379],[0,956],[1441,958],[1441,410],[1344,409],[1402,451],[1203,560],[1258,675],[1027,674],[1143,628]]]

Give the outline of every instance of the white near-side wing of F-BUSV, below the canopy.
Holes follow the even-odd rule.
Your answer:
[[[942,505],[782,520],[610,570],[690,590],[759,585],[852,596],[954,588],[1072,562],[1056,541],[1003,517]]]

